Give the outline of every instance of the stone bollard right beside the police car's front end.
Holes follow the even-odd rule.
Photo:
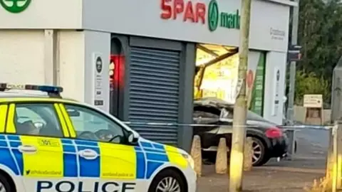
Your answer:
[[[198,135],[194,136],[192,140],[190,155],[194,159],[194,170],[197,176],[202,175],[202,149],[201,149],[201,138]]]

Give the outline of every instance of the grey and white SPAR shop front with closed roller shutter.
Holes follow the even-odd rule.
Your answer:
[[[4,1],[0,80],[55,84],[157,142],[190,146],[194,97],[234,102],[241,1]],[[252,1],[250,109],[280,123],[291,1]],[[14,9],[15,8],[15,9]],[[20,78],[16,78],[19,77]],[[198,80],[199,77],[199,80]]]

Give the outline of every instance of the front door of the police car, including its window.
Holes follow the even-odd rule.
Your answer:
[[[76,132],[80,174],[78,191],[142,189],[140,184],[144,183],[136,180],[139,176],[135,146],[123,144],[123,128],[106,114],[92,108],[83,105],[65,105],[65,108]],[[142,167],[141,170],[144,169]]]

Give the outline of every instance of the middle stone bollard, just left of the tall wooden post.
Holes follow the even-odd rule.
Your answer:
[[[226,138],[219,139],[219,147],[217,148],[215,170],[217,174],[227,174],[227,144]]]

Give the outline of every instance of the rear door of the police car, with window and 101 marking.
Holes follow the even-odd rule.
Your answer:
[[[60,117],[61,110],[53,103],[9,105],[6,133],[28,192],[56,191],[56,181],[77,173],[76,158],[63,154],[61,137],[68,137],[68,130]]]

